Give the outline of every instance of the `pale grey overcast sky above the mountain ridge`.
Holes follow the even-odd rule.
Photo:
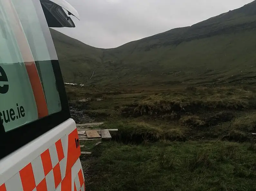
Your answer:
[[[58,29],[85,44],[113,48],[228,12],[252,0],[66,0],[80,14]]]

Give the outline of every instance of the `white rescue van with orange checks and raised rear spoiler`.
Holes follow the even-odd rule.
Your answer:
[[[85,190],[49,30],[75,27],[68,15],[64,0],[0,0],[0,191]]]

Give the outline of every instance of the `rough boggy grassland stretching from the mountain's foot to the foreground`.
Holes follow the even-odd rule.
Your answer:
[[[255,87],[66,88],[77,122],[119,129],[82,143],[87,190],[256,190]]]

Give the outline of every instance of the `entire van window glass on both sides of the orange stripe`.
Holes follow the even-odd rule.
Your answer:
[[[14,13],[18,21],[12,20]],[[39,86],[43,89],[47,114],[62,110],[51,62],[53,59],[57,60],[57,56],[53,43],[49,46],[50,31],[48,27],[48,33],[42,30],[42,22],[46,23],[43,10],[35,11],[33,0],[0,1],[0,118],[5,132],[40,118],[35,99],[36,92],[31,85],[33,78],[28,74],[31,72],[28,71],[28,64],[36,65],[37,70],[33,76],[40,78]],[[25,46],[19,44],[17,38],[21,38],[22,35],[17,36],[12,23],[20,25]],[[29,56],[23,54],[22,49],[26,47],[31,54]],[[32,60],[26,60],[27,58]]]

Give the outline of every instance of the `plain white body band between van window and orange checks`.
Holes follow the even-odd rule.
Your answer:
[[[69,119],[27,145],[24,145],[12,154],[1,159],[0,185],[12,178],[24,166],[40,156],[40,154],[54,145],[54,143],[59,139],[62,140],[64,154],[66,154],[68,149],[68,135],[74,129],[76,129],[75,121]]]

